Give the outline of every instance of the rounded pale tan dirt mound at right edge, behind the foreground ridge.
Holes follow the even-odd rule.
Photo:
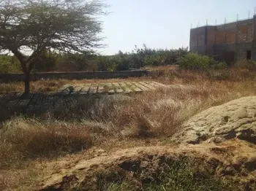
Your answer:
[[[233,100],[196,114],[182,125],[173,140],[199,144],[234,138],[256,144],[256,96]]]

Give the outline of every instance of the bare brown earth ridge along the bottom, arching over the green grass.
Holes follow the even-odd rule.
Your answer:
[[[256,181],[256,146],[246,141],[234,139],[222,144],[170,145],[157,147],[137,147],[120,149],[116,152],[106,153],[104,150],[96,151],[96,157],[83,159],[67,158],[62,161],[48,163],[45,171],[48,175],[38,185],[39,190],[68,190],[83,184],[84,189],[96,190],[97,173],[106,169],[126,171],[132,174],[140,169],[140,177],[145,181],[157,171],[165,160],[178,160],[179,157],[191,157],[203,160],[203,163],[212,168],[216,176],[225,176],[241,187],[254,188]],[[55,170],[53,170],[55,169]],[[111,170],[110,170],[111,171]],[[131,175],[132,176],[132,175]]]

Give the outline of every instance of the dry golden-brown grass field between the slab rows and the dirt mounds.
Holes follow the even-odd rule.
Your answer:
[[[132,142],[172,136],[184,120],[197,112],[236,98],[256,95],[255,77],[255,71],[241,68],[203,73],[166,71],[152,77],[153,80],[179,85],[131,95],[132,99],[127,101],[110,97],[96,101],[83,99],[78,101],[77,107],[66,112],[73,116],[68,122],[68,118],[66,121],[54,119],[54,114],[44,120],[15,117],[0,126],[0,170],[18,171],[15,167],[27,159],[44,160],[45,157],[78,152],[92,145],[99,147],[105,141],[113,141],[110,147],[118,147],[118,142],[124,139]],[[39,88],[45,91],[47,85],[54,90],[66,83],[102,81],[50,80],[32,82],[32,86],[37,88],[34,91]],[[120,82],[121,79],[108,81]],[[16,90],[20,85],[17,83]]]

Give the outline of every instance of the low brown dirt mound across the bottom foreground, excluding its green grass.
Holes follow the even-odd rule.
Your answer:
[[[55,173],[52,172],[53,166],[59,162],[49,164],[45,171],[50,169],[51,173],[38,190],[101,190],[99,185],[102,180],[122,182],[129,179],[138,188],[152,182],[161,184],[159,174],[169,167],[167,164],[181,164],[184,161],[193,161],[193,165],[207,169],[210,176],[230,180],[241,190],[254,190],[255,151],[255,145],[238,139],[219,146],[212,143],[188,147],[169,145],[121,149],[108,155],[102,153],[89,160],[65,161],[65,165],[61,165],[61,169],[56,169]]]

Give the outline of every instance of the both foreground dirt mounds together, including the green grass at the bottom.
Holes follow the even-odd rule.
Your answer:
[[[36,189],[256,190],[255,127],[256,96],[240,98],[185,122],[173,140],[186,144],[91,148],[45,163]]]

